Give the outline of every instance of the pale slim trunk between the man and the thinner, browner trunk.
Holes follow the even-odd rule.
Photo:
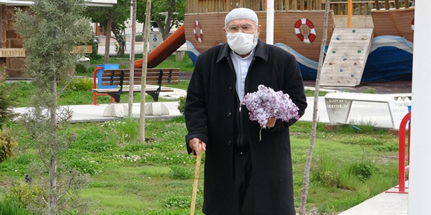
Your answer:
[[[141,111],[139,113],[139,142],[145,142],[145,82],[146,67],[148,57],[148,36],[150,34],[151,0],[146,1],[145,30],[144,30],[144,56],[142,58],[142,79],[141,79]]]

